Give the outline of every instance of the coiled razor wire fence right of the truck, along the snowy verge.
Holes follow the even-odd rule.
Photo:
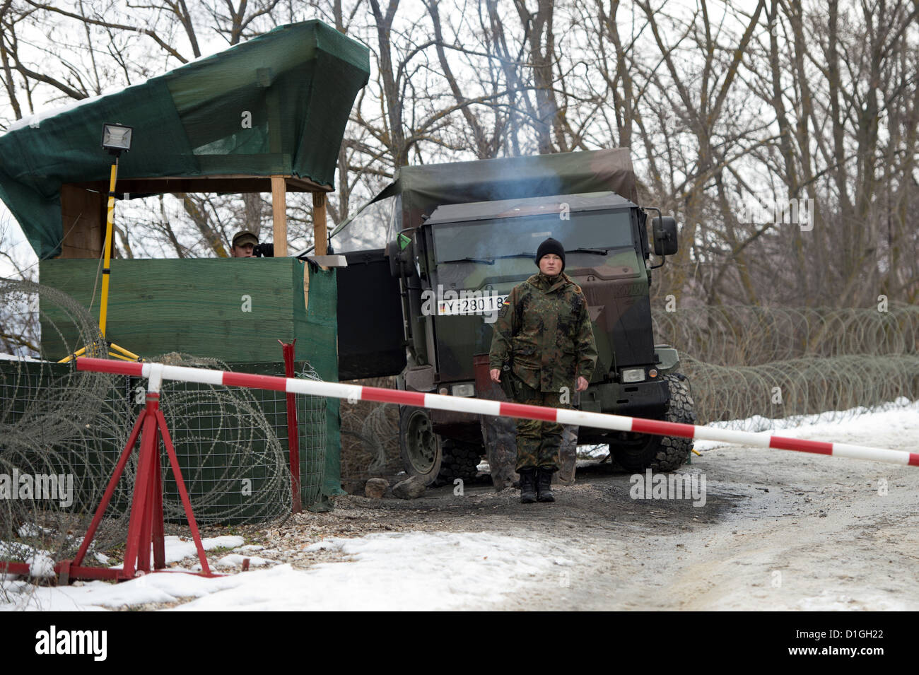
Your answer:
[[[919,308],[714,306],[654,311],[680,352],[701,423],[765,431],[766,420],[843,419],[919,398]]]

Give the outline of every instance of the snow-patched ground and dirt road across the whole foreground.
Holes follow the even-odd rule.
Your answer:
[[[834,417],[781,433],[919,445],[919,402]],[[608,464],[580,468],[555,504],[521,505],[516,491],[485,485],[416,501],[350,496],[335,512],[207,539],[210,565],[227,576],[171,568],[66,588],[6,579],[0,609],[919,609],[919,467],[698,447],[685,473],[707,478],[701,507],[631,499],[630,476]],[[167,557],[196,563],[176,537]]]

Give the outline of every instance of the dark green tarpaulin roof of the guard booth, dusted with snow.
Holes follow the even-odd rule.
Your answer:
[[[369,50],[334,28],[275,28],[32,126],[21,120],[0,137],[0,198],[40,257],[60,253],[61,186],[108,184],[105,123],[134,128],[119,180],[280,174],[334,186],[348,114],[368,78]]]

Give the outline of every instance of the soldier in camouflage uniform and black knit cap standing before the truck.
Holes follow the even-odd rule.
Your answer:
[[[561,242],[549,238],[536,253],[539,274],[514,287],[498,311],[489,354],[495,382],[513,363],[517,403],[568,407],[572,388],[584,391],[596,366],[596,345],[581,287],[564,274]],[[576,377],[576,382],[575,382]],[[559,468],[562,424],[516,421],[520,501],[555,501],[552,474]]]

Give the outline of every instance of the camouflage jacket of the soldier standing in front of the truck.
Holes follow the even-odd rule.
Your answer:
[[[596,366],[594,331],[581,287],[563,272],[537,274],[514,287],[498,310],[489,368],[513,355],[514,373],[541,391],[573,390]]]

